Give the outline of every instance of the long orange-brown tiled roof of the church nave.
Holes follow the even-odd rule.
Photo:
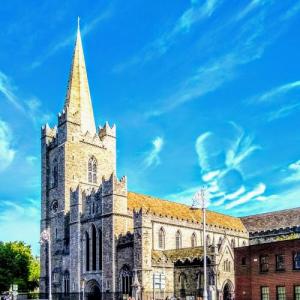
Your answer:
[[[139,210],[141,208],[149,210],[158,216],[177,218],[195,223],[202,222],[201,210],[193,210],[188,205],[173,201],[128,192],[128,209]],[[246,232],[246,228],[239,218],[210,210],[206,214],[206,223],[212,226]]]

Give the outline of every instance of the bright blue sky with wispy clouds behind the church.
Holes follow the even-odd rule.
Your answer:
[[[81,28],[129,190],[236,216],[300,206],[300,1],[2,1],[0,239],[38,253],[40,127]]]

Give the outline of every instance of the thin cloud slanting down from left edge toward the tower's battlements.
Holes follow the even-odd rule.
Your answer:
[[[15,109],[25,117],[29,117],[35,124],[48,122],[52,116],[44,113],[41,109],[41,102],[38,98],[32,97],[21,100],[17,94],[18,88],[13,85],[13,80],[0,71],[0,93]]]

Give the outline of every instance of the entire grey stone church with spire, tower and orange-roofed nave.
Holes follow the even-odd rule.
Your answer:
[[[128,191],[116,142],[115,125],[95,126],[78,29],[64,108],[41,133],[41,232],[51,237],[41,246],[41,292],[51,274],[52,293],[69,299],[201,296],[201,211]],[[249,234],[239,218],[208,211],[206,240],[209,299],[231,299],[233,248]]]

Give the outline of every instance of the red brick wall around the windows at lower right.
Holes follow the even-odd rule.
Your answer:
[[[268,286],[270,300],[276,299],[276,286],[285,286],[286,299],[294,299],[294,286],[300,286],[300,271],[293,270],[293,252],[300,251],[300,239],[236,248],[236,300],[259,300],[261,286]],[[276,271],[276,254],[285,256],[285,271]],[[269,256],[269,271],[260,272],[260,256]],[[246,265],[242,265],[242,258]]]

